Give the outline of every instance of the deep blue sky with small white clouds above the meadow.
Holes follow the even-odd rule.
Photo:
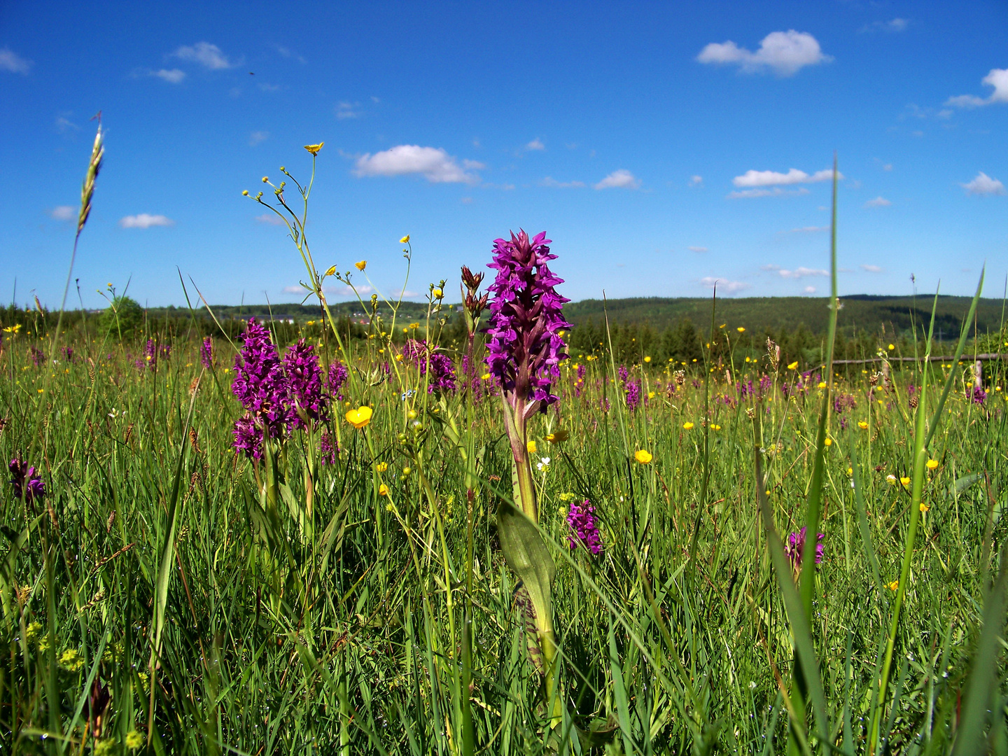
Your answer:
[[[1004,2],[0,6],[0,300],[75,277],[184,304],[295,301],[253,194],[325,141],[321,267],[407,292],[545,230],[575,299],[822,295],[839,153],[842,293],[986,293],[1008,273]],[[355,281],[369,284],[360,274]],[[369,291],[368,291],[369,292]],[[344,298],[339,287],[331,297]],[[72,290],[71,303],[76,304]]]

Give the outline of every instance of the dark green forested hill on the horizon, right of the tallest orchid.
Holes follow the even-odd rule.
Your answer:
[[[934,320],[934,335],[941,340],[958,336],[963,319],[970,311],[972,297],[939,296]],[[933,294],[922,294],[916,298],[909,296],[876,296],[856,294],[841,297],[838,327],[848,336],[858,332],[901,336],[912,330],[912,324],[930,321]],[[751,296],[719,298],[715,319],[717,325],[728,324],[731,328],[742,327],[750,332],[796,331],[802,329],[811,334],[826,333],[828,322],[828,300],[817,296]],[[984,334],[1001,330],[1001,299],[981,299],[977,307],[977,332]],[[586,325],[589,321],[601,325],[606,312],[610,324],[635,324],[649,326],[655,331],[664,331],[682,319],[689,319],[698,328],[706,331],[711,323],[710,298],[685,297],[634,297],[626,299],[583,299],[571,302],[563,309],[568,320],[575,326]]]

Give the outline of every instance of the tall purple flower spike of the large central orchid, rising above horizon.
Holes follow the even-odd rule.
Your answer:
[[[569,301],[556,293],[562,283],[549,271],[551,242],[545,232],[529,239],[519,231],[511,240],[494,242],[494,261],[488,265],[497,271],[489,287],[490,302],[487,333],[487,365],[504,390],[516,399],[541,402],[539,408],[559,398],[550,392],[559,376],[560,360],[566,359],[566,345],[557,332],[571,328],[562,309]]]

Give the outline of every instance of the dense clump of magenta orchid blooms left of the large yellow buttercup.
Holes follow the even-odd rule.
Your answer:
[[[249,319],[242,351],[235,357],[231,391],[245,408],[235,421],[235,449],[262,459],[262,439],[280,438],[328,415],[331,397],[323,391],[323,370],[314,348],[300,340],[280,359],[269,330]],[[334,363],[336,367],[339,363]],[[344,368],[346,370],[346,368]],[[330,384],[332,385],[332,368]]]

